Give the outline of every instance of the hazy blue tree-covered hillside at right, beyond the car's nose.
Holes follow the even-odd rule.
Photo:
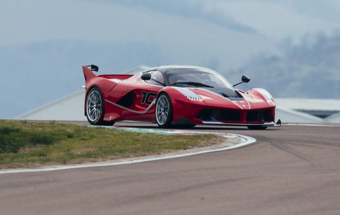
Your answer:
[[[241,89],[261,87],[274,97],[340,98],[340,34],[309,35],[299,45],[286,42],[284,49],[282,57],[257,56],[224,75],[236,82],[246,74],[251,81]]]

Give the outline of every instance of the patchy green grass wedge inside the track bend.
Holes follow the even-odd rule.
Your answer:
[[[0,168],[103,161],[221,142],[223,137],[161,135],[54,122],[0,120]]]

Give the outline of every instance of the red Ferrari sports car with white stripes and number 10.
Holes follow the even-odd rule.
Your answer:
[[[280,126],[275,102],[269,92],[252,88],[244,92],[214,70],[187,65],[164,65],[134,75],[102,74],[96,65],[82,66],[85,77],[85,108],[91,124],[115,121],[171,124],[245,125],[250,129]]]

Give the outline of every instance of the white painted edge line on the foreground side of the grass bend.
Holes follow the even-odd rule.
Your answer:
[[[204,132],[207,133],[207,132]],[[213,132],[216,134],[215,132]],[[132,158],[124,158],[124,159],[115,159],[108,160],[103,162],[95,162],[95,163],[83,163],[83,164],[70,164],[70,165],[51,165],[51,166],[42,166],[42,167],[34,167],[34,168],[17,168],[17,169],[1,169],[0,174],[2,173],[18,173],[18,172],[34,172],[34,171],[51,171],[51,170],[62,170],[62,169],[72,169],[72,168],[85,168],[85,167],[95,167],[95,166],[109,166],[109,165],[120,165],[120,164],[129,164],[129,163],[137,163],[137,162],[146,162],[160,159],[169,159],[175,157],[183,157],[201,153],[208,153],[213,151],[221,151],[228,150],[232,148],[241,147],[247,144],[251,144],[256,141],[256,139],[240,135],[240,134],[232,134],[232,133],[219,133],[227,138],[234,138],[234,141],[226,141],[215,145],[210,145],[207,147],[193,148],[187,150],[180,150],[171,153],[159,154],[159,155],[150,155],[150,156],[142,156],[142,157],[132,157]]]

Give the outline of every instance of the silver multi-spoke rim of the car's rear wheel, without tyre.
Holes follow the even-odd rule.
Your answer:
[[[86,101],[86,114],[91,121],[95,121],[100,116],[101,98],[97,90],[92,90]]]

